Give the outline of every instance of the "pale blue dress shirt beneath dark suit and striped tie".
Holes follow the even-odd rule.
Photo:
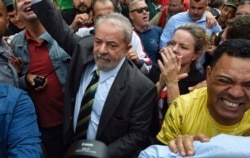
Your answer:
[[[87,132],[87,139],[94,140],[96,137],[103,106],[109,94],[109,90],[124,60],[125,58],[123,58],[121,62],[112,70],[99,71],[100,78],[98,81],[94,103],[92,105],[91,118],[89,121],[89,127],[88,127],[88,132]],[[88,84],[90,83],[92,79],[93,72],[96,69],[97,69],[97,66],[95,64],[88,65],[85,72],[82,75],[80,87],[78,89],[77,96],[76,96],[74,120],[73,120],[74,131],[76,129],[76,124],[77,124],[77,119],[78,119],[78,115],[79,115],[79,111],[81,107],[82,97],[84,95],[85,89],[87,88]]]

